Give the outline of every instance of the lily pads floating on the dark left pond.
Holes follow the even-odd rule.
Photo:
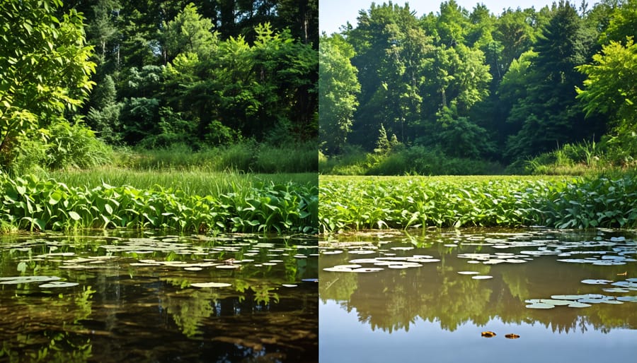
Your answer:
[[[309,256],[318,256],[312,253],[316,252],[316,245],[311,245],[313,241],[309,239],[307,245],[301,242],[295,246],[282,246],[260,237],[246,238],[245,234],[216,237],[176,235],[142,238],[101,237],[95,239],[96,244],[93,248],[90,244],[82,244],[81,247],[86,248],[86,251],[69,244],[67,239],[68,237],[57,239],[55,236],[50,239],[29,239],[0,246],[0,251],[3,249],[16,251],[16,261],[19,261],[18,271],[23,273],[29,269],[29,263],[33,261],[45,261],[46,266],[54,263],[54,269],[67,270],[113,269],[128,266],[161,271],[219,269],[221,273],[221,270],[236,270],[248,265],[254,268],[270,268],[282,265],[290,258],[300,260]],[[217,244],[217,242],[221,243]],[[34,251],[37,252],[34,253]],[[98,251],[98,256],[91,256],[93,251]],[[103,255],[100,255],[100,252]],[[284,257],[285,259],[282,259]],[[42,266],[38,265],[38,267]],[[210,281],[212,275],[207,276],[207,279],[198,274],[183,276],[187,279],[184,280],[183,286],[199,288],[229,287],[233,281],[224,281],[224,279],[234,279],[229,277],[233,275],[225,273],[222,281]],[[60,280],[62,279],[55,276],[21,276],[0,278],[0,284],[40,283],[40,287],[46,289],[78,285],[75,282]],[[287,283],[282,286],[296,287],[297,285]]]

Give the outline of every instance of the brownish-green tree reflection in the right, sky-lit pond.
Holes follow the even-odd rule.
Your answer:
[[[580,283],[587,278],[616,278],[626,269],[637,275],[636,263],[626,262],[621,266],[594,266],[591,263],[564,263],[556,261],[557,253],[549,256],[520,254],[524,250],[547,251],[560,249],[568,244],[569,254],[583,256],[616,254],[629,251],[623,256],[637,256],[634,236],[628,232],[623,242],[610,243],[610,238],[619,232],[573,231],[505,231],[466,230],[464,232],[432,232],[423,236],[408,235],[384,237],[364,235],[343,237],[338,242],[321,242],[323,251],[344,250],[343,254],[321,254],[319,268],[321,281],[319,296],[323,303],[338,302],[346,311],[357,311],[358,320],[369,325],[372,331],[388,333],[409,331],[415,321],[437,322],[445,331],[455,331],[459,326],[471,323],[485,326],[493,319],[503,323],[537,322],[553,332],[586,331],[592,327],[602,332],[613,328],[637,329],[637,309],[632,302],[621,305],[595,304],[586,309],[556,307],[549,311],[527,309],[526,299],[546,298],[551,294],[602,293],[599,285]],[[592,238],[609,242],[604,246],[578,246],[577,241],[587,242]],[[529,246],[529,242],[538,242]],[[365,242],[365,243],[361,243]],[[519,244],[516,246],[515,244]],[[457,244],[457,246],[452,246]],[[447,246],[445,246],[447,245]],[[494,247],[494,245],[497,247]],[[413,246],[408,251],[391,247]],[[451,246],[451,247],[449,247]],[[549,246],[549,247],[546,247]],[[423,263],[422,267],[392,270],[386,268],[377,273],[338,273],[323,271],[323,268],[348,264],[358,258],[348,254],[348,249],[368,248],[378,251],[374,256],[413,256],[424,254],[440,258],[440,262]],[[519,254],[527,257],[527,263],[483,263],[470,264],[458,254]],[[389,255],[384,255],[389,254]],[[370,255],[365,255],[369,257]],[[520,258],[520,257],[519,257]],[[460,275],[459,271],[473,270],[482,275],[493,275],[490,280],[473,280]],[[633,291],[632,294],[637,294]],[[621,294],[620,294],[621,295]],[[326,322],[331,323],[329,321]],[[338,322],[335,322],[338,323]]]

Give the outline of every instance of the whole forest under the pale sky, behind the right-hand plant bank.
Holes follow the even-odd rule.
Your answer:
[[[637,1],[420,18],[374,4],[320,38],[323,174],[634,168]]]

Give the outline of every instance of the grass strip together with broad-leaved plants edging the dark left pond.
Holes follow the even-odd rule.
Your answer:
[[[192,173],[93,170],[59,175],[66,182],[0,174],[0,230],[316,232],[318,187],[308,175],[299,183],[277,179],[284,176]],[[110,179],[117,175],[124,179]]]

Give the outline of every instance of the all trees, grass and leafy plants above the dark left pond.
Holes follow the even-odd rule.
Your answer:
[[[316,231],[318,1],[0,3],[0,233]]]

